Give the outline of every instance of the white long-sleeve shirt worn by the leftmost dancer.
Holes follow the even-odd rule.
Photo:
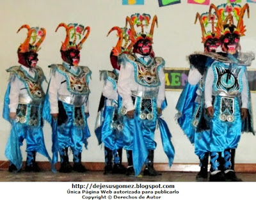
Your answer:
[[[24,65],[20,65],[23,70],[25,70],[31,77],[35,78],[35,69],[33,68],[28,68]],[[16,76],[13,75],[13,77],[10,78],[10,104],[9,104],[9,109],[10,112],[16,112],[17,107],[19,104],[19,95],[28,95],[28,91],[26,89],[25,84],[20,81]]]

